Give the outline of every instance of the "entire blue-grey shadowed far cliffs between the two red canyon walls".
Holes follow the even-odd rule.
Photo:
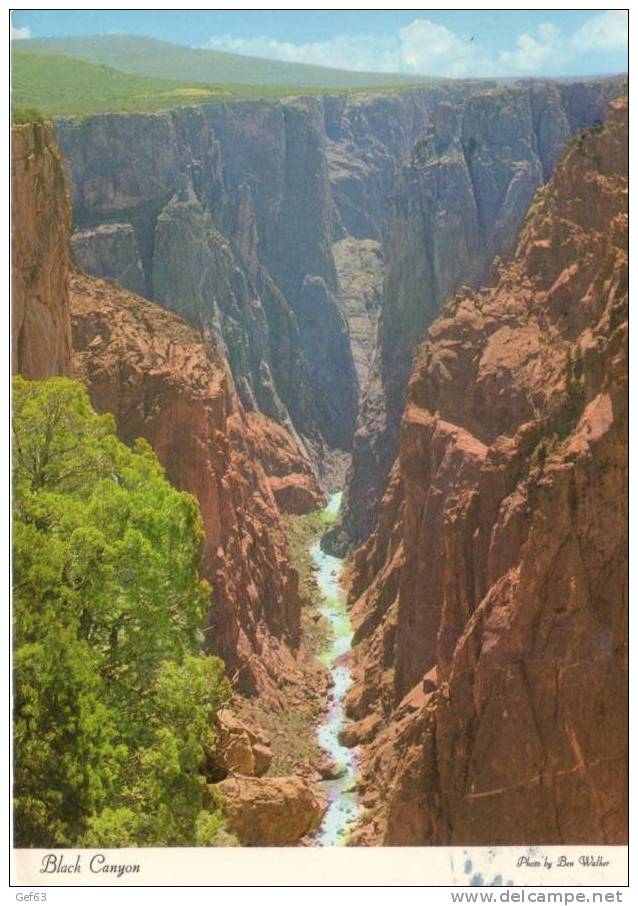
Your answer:
[[[352,247],[338,245],[337,262],[333,246],[387,235],[387,317],[346,520],[360,540],[417,340],[450,291],[508,250],[565,138],[600,116],[611,91],[457,82],[62,119],[78,260],[214,333],[244,407],[294,426],[329,472],[326,448],[352,447],[376,343],[376,318],[366,323],[360,301],[353,311],[359,290],[340,285]]]

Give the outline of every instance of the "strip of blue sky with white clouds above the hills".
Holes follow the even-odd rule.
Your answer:
[[[300,63],[408,75],[627,70],[625,10],[20,10],[12,37],[130,34]]]

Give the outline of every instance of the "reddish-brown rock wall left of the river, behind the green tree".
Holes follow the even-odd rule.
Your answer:
[[[205,639],[243,691],[277,704],[300,682],[298,577],[281,512],[322,503],[296,437],[244,412],[214,335],[112,282],[70,269],[70,205],[51,127],[13,130],[14,370],[70,374],[127,443],[145,438],[198,499],[202,574],[213,590]]]

